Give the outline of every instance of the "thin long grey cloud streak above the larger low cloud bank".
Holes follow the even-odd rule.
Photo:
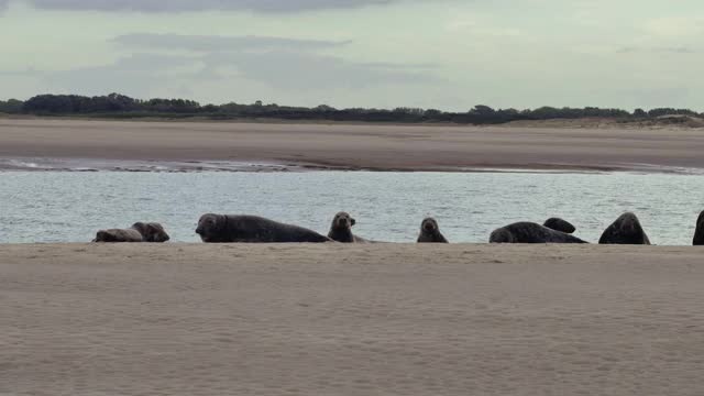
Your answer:
[[[205,36],[179,34],[134,33],[118,36],[114,43],[141,48],[189,50],[198,52],[221,52],[242,50],[322,50],[342,46],[350,41],[296,40],[266,36]]]

